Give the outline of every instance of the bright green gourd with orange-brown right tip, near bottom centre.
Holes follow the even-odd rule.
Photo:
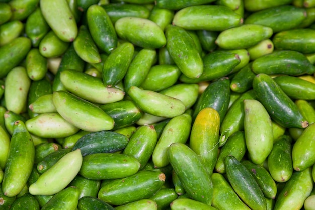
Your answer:
[[[164,183],[164,173],[139,171],[132,176],[109,181],[99,190],[98,198],[110,205],[123,205],[152,197]]]

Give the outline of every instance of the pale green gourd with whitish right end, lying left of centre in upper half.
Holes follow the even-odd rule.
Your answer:
[[[60,73],[60,81],[68,91],[93,103],[108,104],[124,97],[122,90],[105,87],[101,79],[83,72],[64,70]]]

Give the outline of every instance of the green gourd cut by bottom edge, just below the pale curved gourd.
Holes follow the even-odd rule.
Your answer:
[[[67,187],[56,193],[41,210],[76,209],[79,190],[76,187]]]

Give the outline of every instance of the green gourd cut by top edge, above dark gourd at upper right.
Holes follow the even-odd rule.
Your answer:
[[[276,7],[280,5],[286,5],[292,3],[292,0],[258,0],[258,1],[251,1],[251,0],[244,0],[244,7],[248,11],[258,11],[263,10],[266,8]]]

